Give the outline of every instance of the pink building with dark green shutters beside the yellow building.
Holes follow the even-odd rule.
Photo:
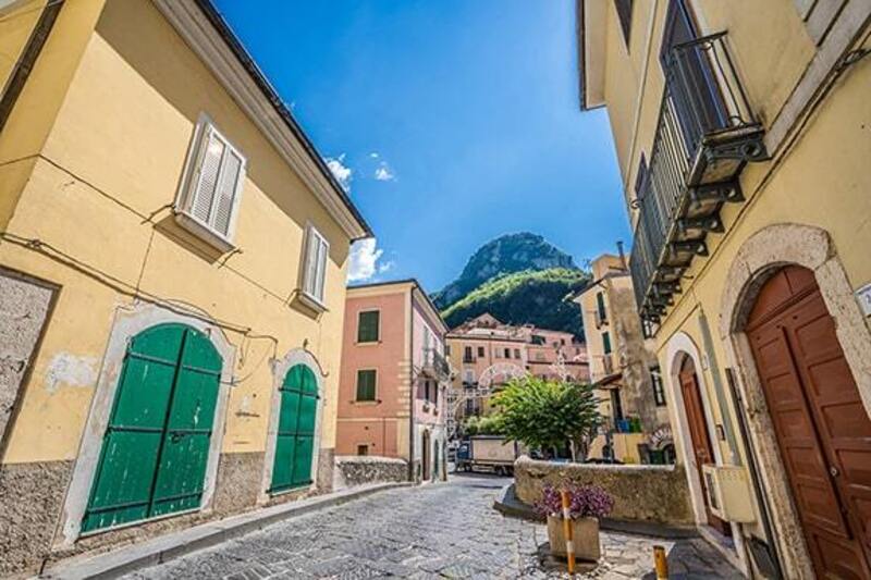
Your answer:
[[[415,280],[348,288],[338,455],[413,458],[414,480],[445,473],[446,331]]]

